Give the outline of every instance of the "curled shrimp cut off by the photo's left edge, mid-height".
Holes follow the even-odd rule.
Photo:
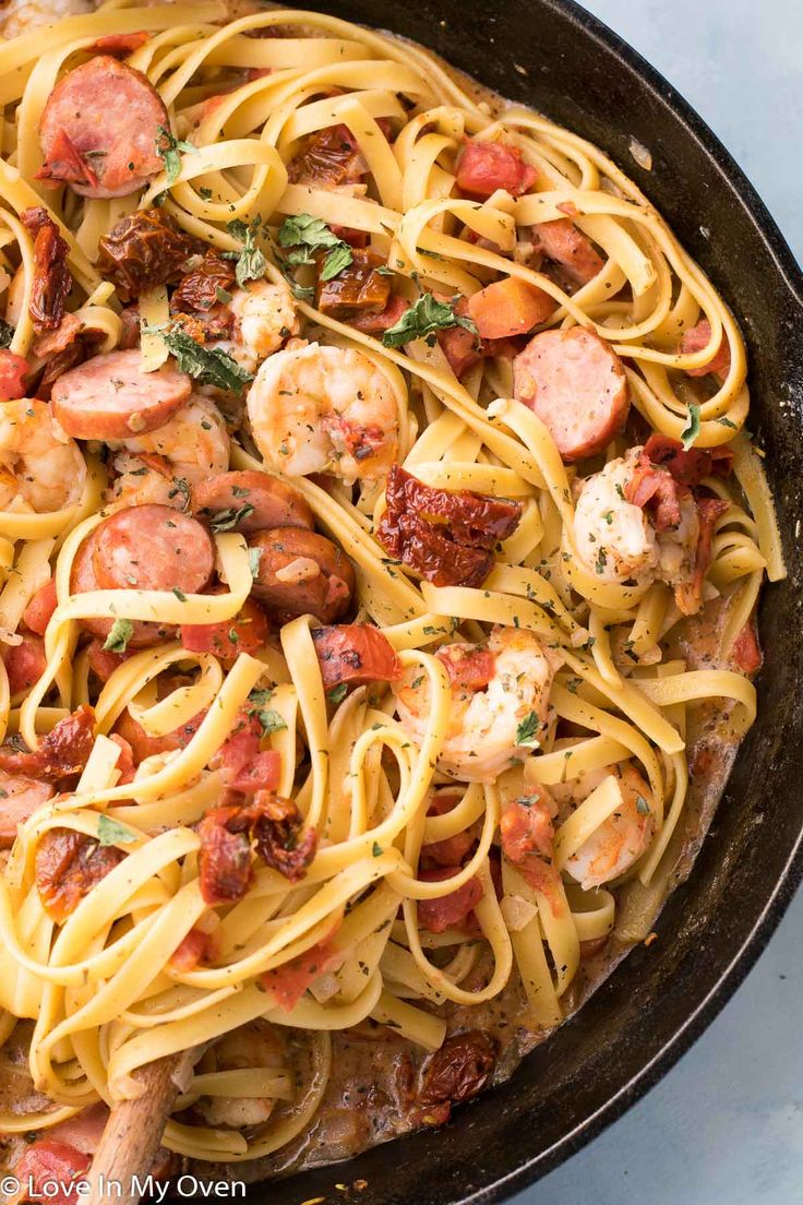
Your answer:
[[[87,464],[45,401],[0,404],[0,510],[47,515],[81,500]]]

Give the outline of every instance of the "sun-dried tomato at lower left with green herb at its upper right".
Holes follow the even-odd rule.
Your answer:
[[[91,888],[125,857],[73,829],[48,829],[36,846],[36,888],[45,909],[63,924]]]

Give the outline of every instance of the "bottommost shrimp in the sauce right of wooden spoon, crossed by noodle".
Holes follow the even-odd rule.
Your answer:
[[[284,1066],[284,1051],[276,1033],[265,1022],[243,1025],[225,1034],[205,1056],[201,1071],[238,1071],[250,1068]],[[195,1110],[209,1125],[242,1129],[264,1125],[273,1112],[270,1097],[201,1097]]]

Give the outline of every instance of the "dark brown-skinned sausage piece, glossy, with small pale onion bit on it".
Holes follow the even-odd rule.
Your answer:
[[[273,528],[248,543],[259,553],[254,595],[266,606],[285,616],[314,615],[321,623],[343,615],[354,594],[354,566],[326,536]]]

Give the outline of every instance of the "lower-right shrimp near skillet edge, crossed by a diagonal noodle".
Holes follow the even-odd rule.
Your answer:
[[[630,763],[588,770],[550,788],[565,821],[610,775],[621,789],[622,804],[566,862],[566,870],[584,890],[619,878],[638,862],[655,833],[654,798]]]

